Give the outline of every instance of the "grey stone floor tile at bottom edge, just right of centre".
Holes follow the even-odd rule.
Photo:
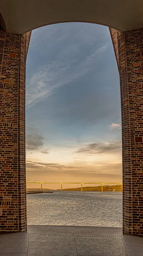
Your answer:
[[[120,236],[77,238],[78,255],[88,256],[127,256]]]

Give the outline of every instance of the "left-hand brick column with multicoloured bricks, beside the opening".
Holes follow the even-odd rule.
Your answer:
[[[31,32],[0,29],[0,231],[26,231],[25,63]]]

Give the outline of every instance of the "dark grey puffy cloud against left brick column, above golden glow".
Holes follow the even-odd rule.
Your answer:
[[[44,137],[39,134],[36,129],[28,128],[30,133],[26,134],[26,150],[27,151],[39,151],[42,154],[48,154],[48,148],[44,147]]]

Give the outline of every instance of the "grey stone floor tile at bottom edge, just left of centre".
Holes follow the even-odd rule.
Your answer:
[[[36,241],[28,247],[28,256],[77,256],[75,243]]]

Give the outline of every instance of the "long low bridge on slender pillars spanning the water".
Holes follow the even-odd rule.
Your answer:
[[[39,183],[41,184],[41,191],[42,191],[42,184],[61,184],[61,191],[62,191],[62,184],[80,184],[81,185],[81,192],[83,192],[83,184],[100,184],[101,191],[103,192],[103,185],[104,184],[118,184],[121,185],[121,190],[123,192],[123,183],[121,182],[61,182],[61,181],[26,181],[26,183]]]

